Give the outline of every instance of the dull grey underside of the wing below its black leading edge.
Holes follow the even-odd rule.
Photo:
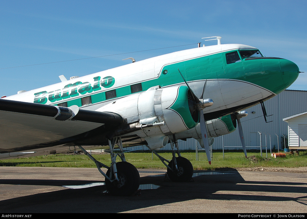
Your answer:
[[[84,121],[58,121],[52,117],[9,111],[0,111],[0,115],[0,149],[3,151],[69,138],[103,125]]]

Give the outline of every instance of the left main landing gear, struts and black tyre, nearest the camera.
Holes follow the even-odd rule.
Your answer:
[[[118,145],[120,153],[114,153],[115,144]],[[80,149],[95,162],[99,172],[105,177],[105,184],[107,190],[112,195],[119,196],[130,196],[134,194],[140,186],[140,174],[138,170],[131,163],[126,162],[125,154],[122,150],[122,139],[121,137],[114,138],[113,143],[109,140],[109,147],[111,153],[111,166],[108,167],[103,163],[93,158],[84,148],[79,146]],[[116,163],[116,157],[119,156],[122,162]],[[105,174],[101,167],[107,168]]]

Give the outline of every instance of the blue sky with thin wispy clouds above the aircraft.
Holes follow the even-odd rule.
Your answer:
[[[0,96],[197,46],[241,43],[295,62],[307,90],[306,1],[1,1]],[[189,45],[194,44],[194,45]],[[216,44],[216,41],[205,45]],[[181,47],[174,47],[187,45]],[[159,49],[173,47],[168,49]],[[151,50],[157,49],[157,50]],[[114,55],[135,51],[146,52]],[[114,55],[114,56],[107,56]],[[67,61],[89,57],[99,58]],[[66,61],[66,62],[59,62]],[[57,62],[53,64],[35,65]],[[11,68],[16,66],[33,65]]]

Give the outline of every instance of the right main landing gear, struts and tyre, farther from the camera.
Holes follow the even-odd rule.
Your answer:
[[[157,154],[156,151],[152,152],[156,154],[157,157],[162,161],[162,163],[167,167],[167,175],[170,180],[172,180],[173,182],[189,182],[193,176],[193,166],[187,158],[181,157],[175,135],[173,135],[171,147],[173,154],[173,159],[171,161],[168,161],[167,159],[161,157],[159,154]],[[176,157],[176,154],[178,155],[178,157]],[[168,164],[166,164],[165,162],[168,162]]]

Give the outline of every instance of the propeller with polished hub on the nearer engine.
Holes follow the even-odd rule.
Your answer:
[[[178,71],[179,71],[181,77],[183,78],[183,80],[185,81],[185,78],[182,76],[179,68],[178,68]],[[205,119],[204,119],[203,109],[206,108],[206,107],[212,106],[213,100],[210,99],[210,98],[203,99],[206,83],[204,84],[203,92],[201,94],[200,99],[194,94],[194,92],[192,91],[192,89],[190,88],[190,86],[188,85],[188,83],[186,81],[185,81],[185,84],[188,86],[189,90],[191,91],[191,93],[194,97],[194,101],[195,101],[194,107],[196,108],[196,110],[198,111],[198,114],[199,114],[201,136],[202,136],[202,139],[203,139],[203,142],[204,142],[204,148],[206,150],[208,162],[211,165],[211,154],[210,154],[210,149],[209,149],[208,133],[207,133],[207,127],[206,127],[206,123],[205,123]]]

